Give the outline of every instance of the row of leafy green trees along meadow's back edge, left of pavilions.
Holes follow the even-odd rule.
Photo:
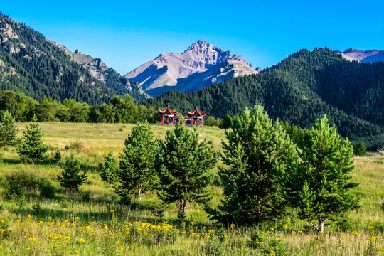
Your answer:
[[[63,102],[43,97],[39,102],[21,92],[0,92],[0,112],[8,111],[18,122],[29,122],[36,116],[39,122],[102,122],[136,123],[159,122],[160,115],[154,107],[138,105],[130,95],[113,96],[109,104],[95,107],[74,99]]]

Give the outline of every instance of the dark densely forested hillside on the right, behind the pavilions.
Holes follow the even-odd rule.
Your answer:
[[[214,117],[240,114],[256,103],[273,119],[309,127],[326,114],[343,137],[370,150],[384,144],[384,63],[344,60],[327,48],[299,50],[259,75],[233,78],[197,92],[170,91],[149,100],[181,112],[196,106]]]

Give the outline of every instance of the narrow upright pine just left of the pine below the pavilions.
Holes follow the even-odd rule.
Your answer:
[[[137,124],[125,140],[124,152],[120,155],[119,196],[142,198],[144,193],[156,188],[158,177],[154,171],[156,144],[151,125]]]

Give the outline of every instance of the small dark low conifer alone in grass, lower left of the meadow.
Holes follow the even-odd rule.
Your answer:
[[[87,180],[87,174],[81,170],[80,162],[73,154],[63,164],[63,171],[58,176],[60,186],[70,191],[78,191],[79,186]]]

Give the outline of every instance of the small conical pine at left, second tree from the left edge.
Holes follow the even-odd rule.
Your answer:
[[[17,146],[21,161],[34,164],[46,157],[48,146],[43,143],[43,136],[36,117],[33,117],[32,122],[26,126],[23,137]]]

